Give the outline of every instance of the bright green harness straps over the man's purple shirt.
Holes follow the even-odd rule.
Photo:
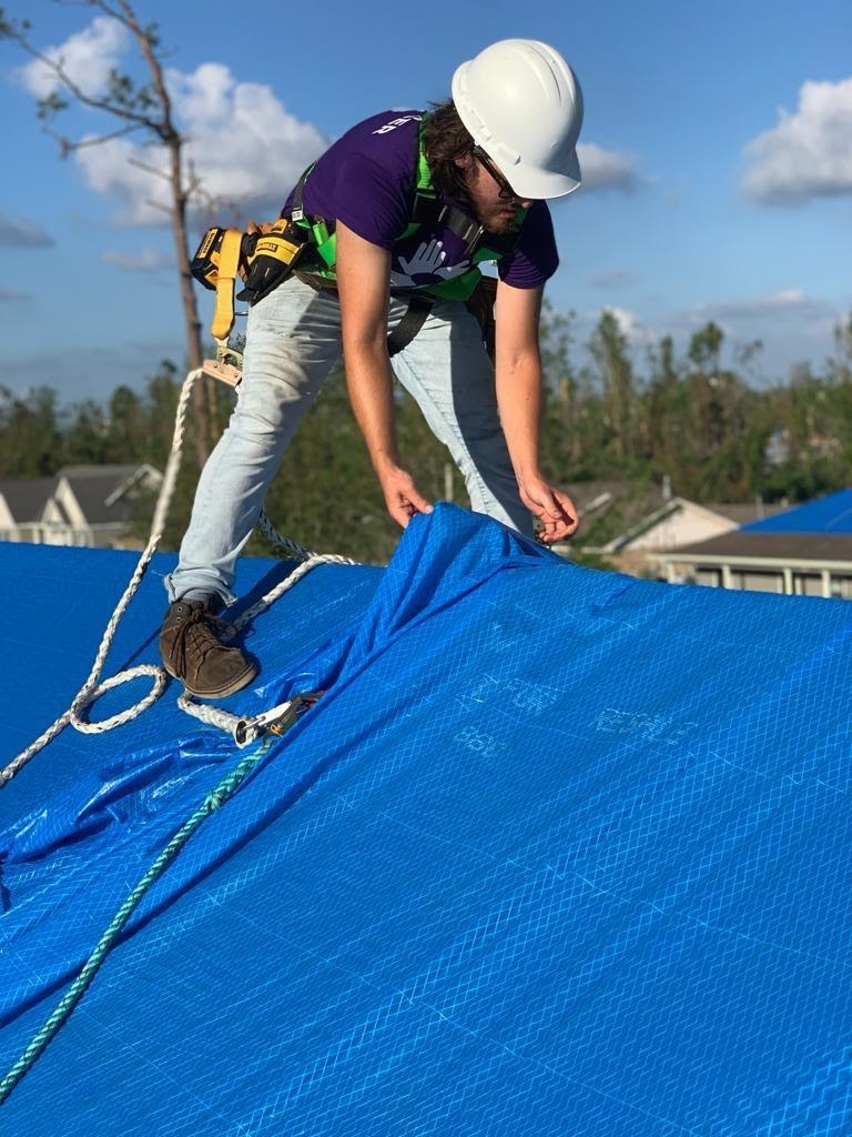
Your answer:
[[[415,186],[415,201],[412,206],[414,214],[428,210],[437,214],[440,209],[440,198],[432,181],[432,171],[429,169],[429,164],[426,159],[426,148],[423,140],[424,126],[427,118],[428,115],[424,115],[417,131],[417,183]],[[326,280],[334,281],[336,280],[334,269],[337,259],[334,231],[329,232],[328,223],[325,218],[309,217],[302,208],[304,183],[308,181],[308,176],[314,169],[314,165],[316,164],[308,166],[302,176],[299,179],[299,183],[293,192],[292,218],[296,224],[307,229],[311,234],[314,251],[317,255],[317,259],[320,262],[316,267],[311,267],[311,272],[318,276],[325,276]],[[454,214],[463,216],[469,223],[469,218],[467,218],[461,210],[449,207],[448,215],[452,217]],[[511,251],[517,242],[518,231],[524,224],[526,215],[526,209],[518,210],[515,218],[516,231],[511,234],[511,239],[509,241],[501,241],[499,238],[496,240],[493,238],[483,238],[482,230],[479,230],[476,241],[474,242],[474,247],[470,250],[471,267],[466,272],[460,273],[458,276],[453,276],[451,280],[442,281],[438,284],[432,284],[425,289],[419,289],[418,292],[440,300],[468,300],[482,280],[482,272],[477,266],[484,262],[501,260]],[[406,230],[396,240],[407,240],[407,238],[416,233],[423,224],[423,221],[410,221]],[[488,243],[488,241],[491,243]]]

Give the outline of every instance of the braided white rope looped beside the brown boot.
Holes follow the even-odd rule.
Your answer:
[[[107,730],[114,730],[116,727],[122,727],[126,722],[131,722],[147,711],[153,703],[160,697],[166,687],[166,672],[162,667],[154,664],[145,663],[140,664],[135,667],[128,667],[126,671],[120,671],[118,674],[112,675],[110,679],[99,682],[101,672],[103,670],[103,664],[106,663],[107,655],[109,653],[112,639],[116,633],[118,623],[127,611],[127,606],[133,599],[139,586],[142,582],[142,578],[148,570],[148,565],[151,562],[151,557],[157,550],[157,546],[162,537],[162,531],[166,526],[166,520],[168,517],[169,508],[172,506],[172,498],[175,492],[175,484],[177,483],[177,475],[181,471],[181,460],[183,458],[183,442],[184,442],[184,431],[186,422],[186,408],[190,402],[190,395],[192,393],[192,384],[202,374],[201,368],[197,371],[191,371],[183,382],[181,388],[181,393],[177,400],[177,410],[175,413],[175,429],[172,437],[172,450],[168,456],[168,462],[166,464],[166,473],[162,478],[162,485],[160,488],[159,497],[157,498],[157,506],[153,512],[153,521],[151,522],[151,531],[148,538],[148,543],[145,545],[142,555],[136,562],[136,567],[133,572],[131,581],[124,591],[120,600],[116,605],[116,609],[109,619],[107,628],[103,632],[103,637],[98,648],[98,654],[94,657],[94,663],[92,664],[92,670],[89,673],[89,678],[83,683],[81,689],[74,696],[72,705],[68,709],[61,714],[53,723],[51,723],[48,729],[40,735],[35,741],[31,742],[25,750],[16,755],[11,762],[3,769],[0,770],[0,789],[10,781],[18,771],[26,765],[26,763],[35,754],[42,750],[48,742],[52,741],[57,735],[61,733],[65,728],[70,724],[76,730],[83,731],[87,735],[100,735]],[[227,639],[235,636],[250,620],[252,620],[259,612],[262,612],[270,604],[273,604],[279,596],[292,588],[299,580],[304,576],[307,572],[315,568],[319,564],[354,564],[356,562],[350,561],[348,557],[339,557],[334,555],[324,555],[311,553],[309,549],[302,548],[295,541],[291,541],[275,529],[266,514],[260,515],[260,528],[264,533],[272,540],[275,545],[282,548],[285,555],[295,561],[302,561],[299,567],[287,576],[286,580],[282,581],[276,588],[264,596],[257,604],[253,604],[248,608],[240,619],[232,625],[232,630],[226,637]],[[139,679],[143,675],[150,675],[153,679],[151,690],[145,695],[139,703],[135,703],[132,707],[126,711],[122,711],[118,714],[114,714],[109,719],[105,719],[101,722],[90,722],[83,717],[83,713],[90,707],[97,699],[103,695],[105,691],[111,690],[114,687],[119,687],[122,683],[127,683],[133,679]],[[187,714],[194,715],[197,719],[201,719],[203,722],[210,723],[214,727],[218,727],[220,730],[225,730],[227,733],[232,735],[237,741],[237,745],[248,745],[248,741],[253,740],[258,737],[264,725],[264,720],[266,715],[256,715],[252,719],[239,719],[236,715],[231,715],[225,711],[214,706],[202,706],[201,704],[193,703],[191,697],[186,691],[178,698],[177,705],[182,711]],[[279,709],[279,708],[275,708]],[[251,738],[245,742],[241,739],[247,735]]]

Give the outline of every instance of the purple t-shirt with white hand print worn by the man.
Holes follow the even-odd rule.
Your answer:
[[[386,110],[358,123],[318,159],[304,185],[306,214],[342,221],[393,252],[391,288],[429,288],[470,267],[465,242],[436,222],[400,241],[411,219],[421,110]],[[290,216],[291,192],[282,213]],[[462,202],[442,194],[470,216]],[[498,263],[515,288],[538,288],[559,265],[553,223],[543,201],[527,213],[513,250]]]

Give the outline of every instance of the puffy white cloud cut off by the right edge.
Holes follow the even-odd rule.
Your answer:
[[[852,78],[803,83],[779,118],[745,148],[745,192],[763,205],[852,193]]]

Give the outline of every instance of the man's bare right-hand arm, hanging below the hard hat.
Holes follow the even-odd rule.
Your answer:
[[[540,465],[542,291],[512,288],[504,281],[498,283],[495,372],[500,422],[520,499],[541,518],[542,540],[552,543],[575,532],[578,521],[571,499],[550,484]]]

